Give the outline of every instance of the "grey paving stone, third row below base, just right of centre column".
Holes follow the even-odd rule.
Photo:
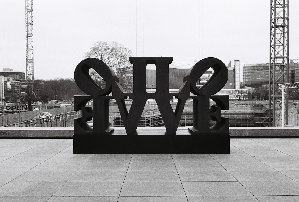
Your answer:
[[[237,181],[228,171],[178,171],[181,181]]]

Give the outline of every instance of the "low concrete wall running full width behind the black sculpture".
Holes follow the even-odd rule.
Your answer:
[[[115,127],[115,130],[124,130],[124,127]],[[161,130],[163,134],[164,127],[139,127],[138,130],[144,133],[144,130]],[[179,127],[178,132],[187,133],[188,127]],[[229,127],[231,137],[299,137],[299,127]],[[0,127],[0,138],[9,137],[73,137],[74,127]],[[159,132],[160,134],[160,132]]]

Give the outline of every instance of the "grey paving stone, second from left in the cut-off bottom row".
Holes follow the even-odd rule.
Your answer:
[[[117,202],[118,196],[53,196],[48,202]]]

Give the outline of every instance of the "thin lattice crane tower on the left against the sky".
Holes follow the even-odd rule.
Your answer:
[[[33,0],[26,0],[26,77],[34,80],[33,75]]]

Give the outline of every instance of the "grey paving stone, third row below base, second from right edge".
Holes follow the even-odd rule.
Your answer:
[[[289,181],[289,177],[279,171],[229,171],[238,181]]]

